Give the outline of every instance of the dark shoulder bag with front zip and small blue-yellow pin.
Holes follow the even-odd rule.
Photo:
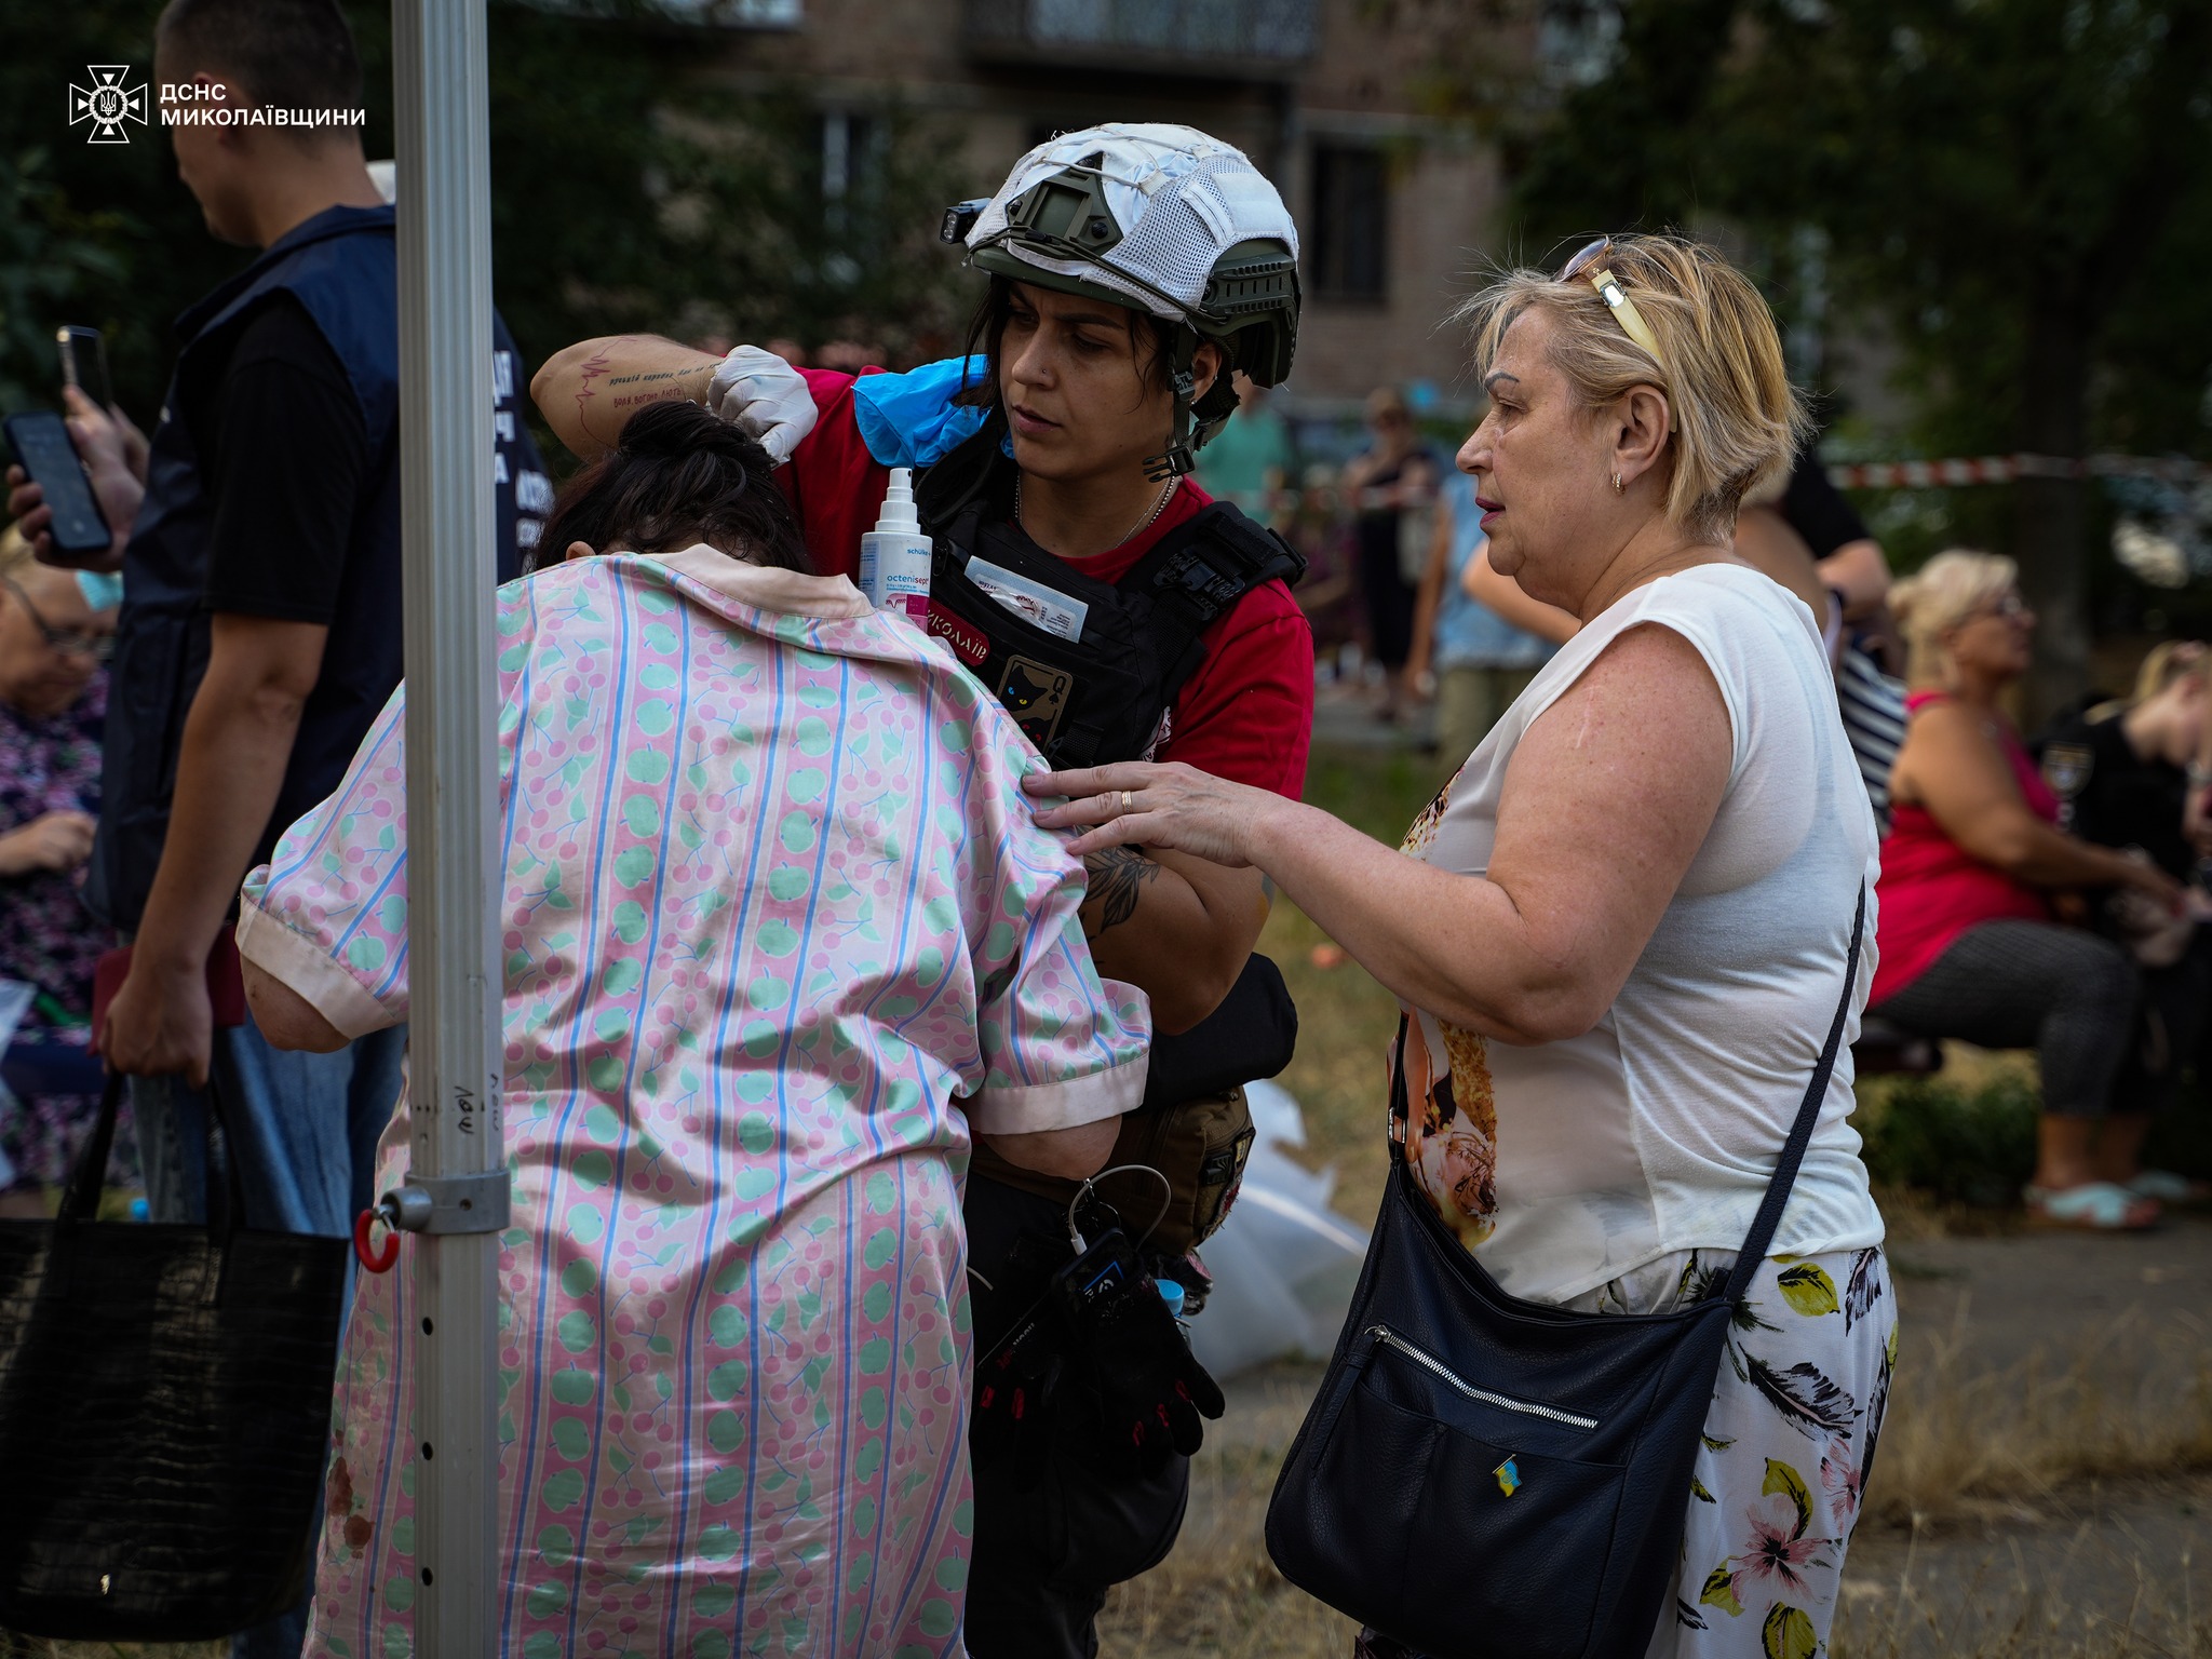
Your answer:
[[[1721,1343],[1820,1117],[1865,922],[1860,891],[1827,1044],[1710,1301],[1577,1314],[1509,1296],[1391,1141],[1352,1314],[1267,1504],[1283,1577],[1431,1659],[1644,1657],[1681,1566]]]

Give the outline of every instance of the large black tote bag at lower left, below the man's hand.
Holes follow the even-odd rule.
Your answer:
[[[250,1232],[237,1159],[217,1225],[95,1221],[119,1097],[0,1221],[0,1628],[206,1641],[305,1595],[347,1241]]]

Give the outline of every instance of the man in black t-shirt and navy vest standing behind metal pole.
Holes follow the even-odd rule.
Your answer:
[[[212,1073],[254,1225],[343,1234],[369,1197],[405,1033],[279,1053],[250,1020],[212,1029],[206,973],[241,878],[336,787],[403,672],[394,217],[356,126],[237,119],[358,108],[336,0],[170,0],[155,80],[192,88],[188,113],[234,117],[173,126],[177,173],[210,234],[261,254],[179,319],[150,453],[71,403],[124,571],[86,898],[133,956],[102,1051],[133,1077],[157,1217],[204,1208]],[[551,487],[504,330],[498,343],[504,577]],[[13,482],[40,535],[35,487]]]

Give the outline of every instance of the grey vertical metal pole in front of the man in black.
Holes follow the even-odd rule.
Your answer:
[[[394,0],[407,602],[416,1652],[498,1644],[500,1133],[484,0]]]

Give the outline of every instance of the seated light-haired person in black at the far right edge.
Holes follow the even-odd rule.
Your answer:
[[[2212,653],[2199,639],[2154,646],[2135,677],[2135,695],[2057,721],[2037,741],[2044,783],[2059,799],[2059,827],[2099,847],[2139,849],[2174,880],[2188,883],[2212,852],[2185,830],[2190,770],[2205,743],[2212,701]],[[2197,905],[2172,916],[2139,889],[2121,887],[2097,907],[2097,931],[2119,940],[2143,973],[2139,1053],[2128,1106],[2157,1115],[2172,1106],[2181,1068],[2199,1062],[2212,1015],[2212,929]],[[2168,1170],[2141,1170],[2132,1181],[2168,1203],[2203,1197],[2203,1188]]]

